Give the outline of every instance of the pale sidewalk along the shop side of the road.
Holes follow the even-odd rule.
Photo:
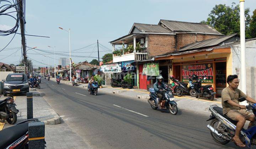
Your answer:
[[[54,79],[53,79],[54,80]],[[68,81],[61,81],[60,83],[64,84],[70,84],[72,83]],[[84,88],[87,90],[87,85],[88,84],[79,84],[78,87]],[[98,92],[104,92],[108,94],[115,94],[118,96],[126,96],[128,98],[133,98],[141,101],[145,101],[148,103],[149,97],[149,92],[147,90],[142,90],[142,89],[123,89],[123,88],[112,88],[111,86],[108,85],[103,85],[103,88],[98,88]],[[195,97],[191,96],[174,96],[175,101],[178,104],[179,109],[185,109],[188,111],[193,111],[193,112],[199,112],[201,114],[208,115],[209,114],[209,106],[210,105],[218,105],[222,107],[221,104],[221,99],[214,99],[213,101],[206,100],[204,98],[197,99]]]

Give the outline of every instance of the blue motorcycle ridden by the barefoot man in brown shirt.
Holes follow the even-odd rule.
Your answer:
[[[239,102],[245,101],[244,97],[239,98]],[[256,116],[256,104],[247,105],[247,110],[252,110]],[[210,134],[213,139],[220,144],[229,143],[235,136],[236,123],[237,121],[231,120],[229,117],[223,114],[221,107],[217,105],[211,105],[209,107],[210,118],[207,121],[210,121],[210,125],[207,125],[207,128],[210,129]],[[248,148],[251,148],[251,145],[256,145],[256,125],[255,123],[248,129],[242,129],[240,132],[240,140],[246,144]]]

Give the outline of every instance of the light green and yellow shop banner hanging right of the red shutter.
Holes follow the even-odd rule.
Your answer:
[[[158,63],[144,64],[142,74],[146,76],[159,76],[159,64]]]

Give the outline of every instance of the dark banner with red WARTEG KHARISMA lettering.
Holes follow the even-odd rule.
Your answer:
[[[182,65],[182,82],[188,82],[189,76],[197,75],[205,83],[213,83],[213,63]]]

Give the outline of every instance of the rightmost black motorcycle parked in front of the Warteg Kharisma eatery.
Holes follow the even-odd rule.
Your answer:
[[[206,78],[204,78],[205,80]],[[196,92],[196,98],[203,97],[210,101],[214,100],[214,95],[216,92],[213,91],[212,85],[202,85],[203,80],[197,79],[194,84],[194,90]]]

